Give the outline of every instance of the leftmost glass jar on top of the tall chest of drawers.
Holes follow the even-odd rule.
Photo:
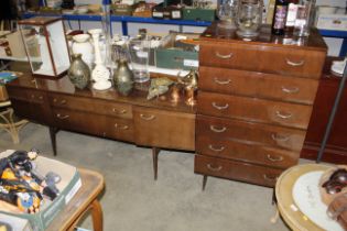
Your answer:
[[[238,0],[218,0],[217,16],[218,26],[224,29],[236,29],[236,15],[238,10]]]

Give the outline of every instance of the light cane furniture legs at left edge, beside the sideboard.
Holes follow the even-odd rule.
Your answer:
[[[29,122],[28,120],[14,120],[13,109],[10,108],[11,101],[0,101],[0,108],[6,110],[0,111],[0,129],[4,129],[12,138],[13,143],[20,142],[19,131]]]

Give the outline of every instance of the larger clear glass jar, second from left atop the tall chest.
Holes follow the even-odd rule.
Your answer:
[[[262,19],[262,0],[240,0],[237,16],[237,35],[253,38],[259,35]]]

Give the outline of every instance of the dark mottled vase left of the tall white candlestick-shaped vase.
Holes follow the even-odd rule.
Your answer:
[[[90,80],[90,69],[82,59],[82,54],[73,54],[72,58],[73,62],[67,70],[67,76],[76,88],[85,89]]]

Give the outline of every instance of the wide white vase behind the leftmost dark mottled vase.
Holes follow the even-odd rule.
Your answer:
[[[77,34],[73,36],[73,54],[82,54],[82,59],[91,69],[94,63],[94,46],[90,43],[89,34]]]

